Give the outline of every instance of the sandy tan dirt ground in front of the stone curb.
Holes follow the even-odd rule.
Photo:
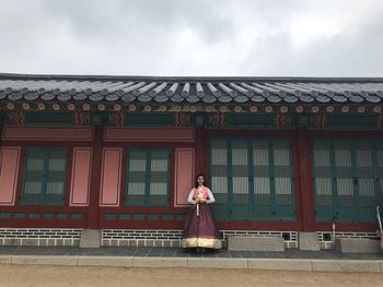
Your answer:
[[[383,274],[0,265],[0,286],[383,286]]]

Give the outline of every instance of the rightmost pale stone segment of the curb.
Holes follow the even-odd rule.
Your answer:
[[[378,260],[312,260],[311,264],[321,272],[381,272]]]

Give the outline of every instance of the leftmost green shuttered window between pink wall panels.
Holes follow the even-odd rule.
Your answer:
[[[67,154],[67,148],[26,148],[22,204],[63,204]]]

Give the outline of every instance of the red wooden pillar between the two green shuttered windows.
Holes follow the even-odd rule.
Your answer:
[[[103,155],[103,127],[94,128],[93,136],[93,158],[91,174],[91,189],[89,198],[88,223],[89,229],[98,229],[98,210],[100,210],[100,189],[101,189],[101,170]]]

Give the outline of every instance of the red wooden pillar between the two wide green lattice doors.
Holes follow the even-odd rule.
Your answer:
[[[299,192],[300,192],[300,212],[302,231],[315,231],[315,196],[313,190],[313,170],[311,158],[311,143],[307,131],[298,130],[298,167],[299,167]]]

